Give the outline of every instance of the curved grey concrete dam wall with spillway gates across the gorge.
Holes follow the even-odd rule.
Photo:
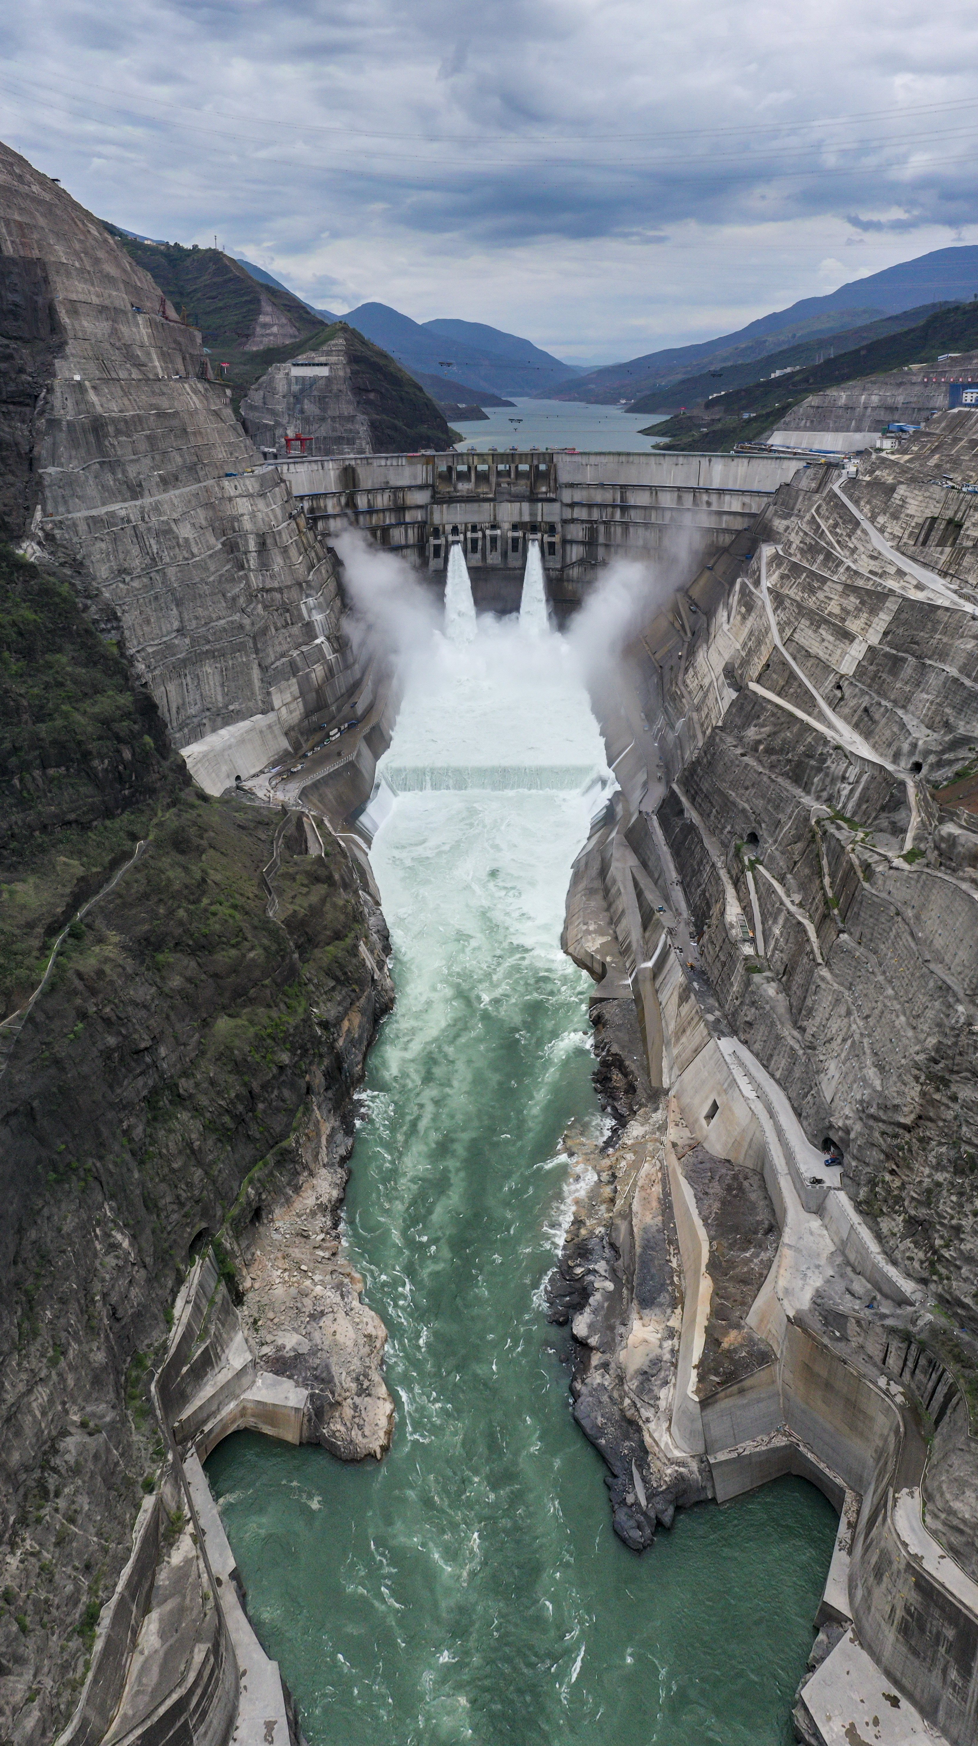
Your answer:
[[[353,524],[437,587],[459,541],[479,611],[519,611],[536,541],[559,616],[615,559],[655,557],[683,574],[693,557],[707,562],[753,526],[795,468],[763,456],[543,449],[278,463],[328,545]]]

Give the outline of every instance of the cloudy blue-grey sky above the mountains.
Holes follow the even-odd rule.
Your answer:
[[[21,0],[0,136],[318,306],[604,363],[978,241],[978,9]]]

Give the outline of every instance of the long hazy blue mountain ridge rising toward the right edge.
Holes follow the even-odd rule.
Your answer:
[[[573,388],[564,384],[555,391],[555,398],[587,400],[597,405],[615,405],[625,398],[632,402],[692,374],[692,368],[725,361],[746,363],[784,347],[789,340],[842,333],[920,306],[968,302],[976,293],[978,246],[938,248],[929,255],[919,255],[917,260],[903,260],[896,267],[884,267],[882,272],[840,285],[826,297],[803,297],[789,309],[760,316],[735,333],[723,333],[697,346],[650,351],[625,363],[610,363],[578,377]]]

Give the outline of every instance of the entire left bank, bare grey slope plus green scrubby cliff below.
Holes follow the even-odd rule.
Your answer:
[[[232,1357],[265,1428],[286,1400],[293,1439],[382,1454],[386,1334],[339,1206],[391,985],[327,821],[208,798],[173,747],[217,793],[355,698],[377,737],[377,674],[199,333],[5,147],[0,300],[0,1732],[250,1739],[260,1704],[293,1722],[215,1606],[232,1559],[175,1402]]]

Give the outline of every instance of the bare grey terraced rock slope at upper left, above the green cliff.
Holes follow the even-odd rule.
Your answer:
[[[337,707],[353,681],[332,562],[260,471],[199,333],[7,147],[0,260],[0,533],[77,576],[176,746]]]

